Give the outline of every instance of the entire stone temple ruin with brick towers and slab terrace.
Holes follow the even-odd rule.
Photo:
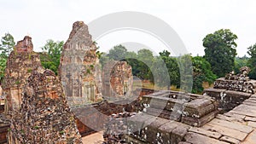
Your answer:
[[[19,41],[2,85],[0,143],[82,143],[81,135],[95,130],[104,130],[104,144],[255,143],[256,83],[247,77],[248,67],[195,95],[133,90],[125,61],[108,63],[103,72],[98,63],[96,45],[81,21],[64,45],[60,78],[41,66],[31,37]],[[131,95],[137,95],[131,103],[108,101]]]

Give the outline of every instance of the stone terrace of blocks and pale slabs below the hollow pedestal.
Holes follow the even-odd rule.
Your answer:
[[[160,92],[157,94],[160,94]],[[146,97],[150,96],[147,95]],[[150,106],[150,108],[152,107]],[[114,134],[116,131],[113,130],[116,129],[114,127],[117,123],[119,124],[119,133]],[[201,127],[184,124],[182,121],[178,122],[177,119],[155,117],[150,112],[136,114],[118,122],[112,120],[108,126],[112,128],[105,133],[113,134],[110,139],[105,137],[105,141],[109,143],[125,141],[139,144],[148,142],[165,144],[255,144],[256,95],[251,95],[249,99],[243,101],[240,106],[235,107],[230,112],[217,114],[215,118]]]

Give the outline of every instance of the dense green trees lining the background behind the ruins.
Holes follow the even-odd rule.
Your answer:
[[[181,83],[185,81],[181,79],[183,78],[181,74],[184,75],[186,72],[183,71],[191,69],[192,72],[190,75],[188,72],[188,77],[193,79],[192,93],[201,94],[204,87],[211,86],[216,78],[224,77],[231,71],[238,73],[241,66],[249,66],[252,70],[249,77],[256,79],[256,43],[245,48],[249,56],[237,57],[237,38],[229,29],[208,34],[202,40],[202,45],[205,47],[203,56],[173,57],[167,50],[160,52],[159,55],[153,55],[149,49],[137,48],[140,50],[134,52],[128,51],[123,45],[114,46],[108,54],[97,51],[96,55],[102,64],[102,69],[108,60],[125,60],[131,65],[133,76],[145,83],[156,84],[158,88],[180,89]],[[42,66],[55,74],[58,74],[63,44],[63,41],[49,39],[39,53]],[[10,33],[4,34],[0,43],[0,81],[4,77],[6,62],[14,46],[15,38]],[[187,66],[185,69],[184,64]],[[162,71],[163,66],[166,67],[166,72]],[[166,76],[170,81],[166,81],[168,78]],[[166,83],[158,83],[158,81]]]

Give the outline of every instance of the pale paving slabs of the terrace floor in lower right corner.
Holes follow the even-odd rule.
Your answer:
[[[256,95],[201,128],[191,128],[185,140],[195,144],[256,144]]]

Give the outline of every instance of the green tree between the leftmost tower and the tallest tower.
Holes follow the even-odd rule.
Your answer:
[[[41,64],[44,68],[48,68],[58,74],[60,65],[61,52],[64,42],[55,42],[49,39],[41,49],[43,53],[40,55]]]

